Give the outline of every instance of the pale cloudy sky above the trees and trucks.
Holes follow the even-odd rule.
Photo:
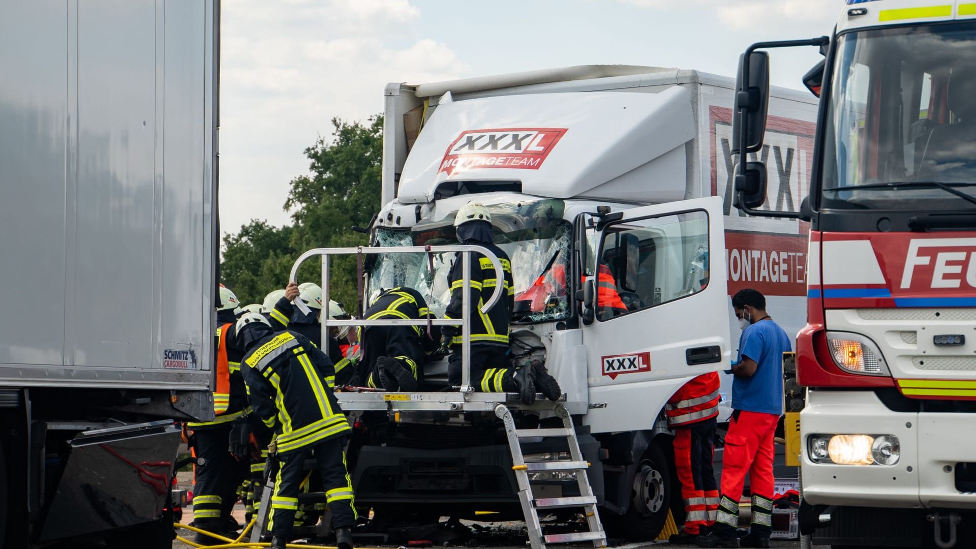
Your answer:
[[[574,64],[733,75],[752,42],[830,34],[842,0],[225,0],[221,228],[281,226],[305,148],[333,117],[383,110],[413,84]],[[801,89],[817,52],[771,55],[773,85]]]

